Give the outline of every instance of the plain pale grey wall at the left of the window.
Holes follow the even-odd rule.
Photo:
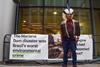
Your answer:
[[[0,0],[0,61],[3,59],[3,40],[14,33],[16,4],[12,0]]]

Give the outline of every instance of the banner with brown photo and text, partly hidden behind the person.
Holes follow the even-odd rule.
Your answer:
[[[49,48],[50,60],[62,60],[63,48],[61,47],[61,35],[52,35],[56,46]],[[59,46],[61,45],[61,46]],[[57,51],[56,51],[57,50]],[[54,52],[56,51],[56,52]],[[93,60],[93,41],[92,35],[80,35],[77,43],[77,60]]]

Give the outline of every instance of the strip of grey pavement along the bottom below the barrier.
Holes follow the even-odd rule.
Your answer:
[[[24,65],[24,64],[8,64],[8,65],[0,65],[0,67],[61,67],[60,64],[54,64],[54,65]],[[68,67],[72,67],[69,65]],[[80,64],[78,67],[100,67],[100,64]]]

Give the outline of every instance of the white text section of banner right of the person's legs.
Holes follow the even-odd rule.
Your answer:
[[[78,60],[93,59],[93,41],[91,35],[81,35],[77,45]]]

